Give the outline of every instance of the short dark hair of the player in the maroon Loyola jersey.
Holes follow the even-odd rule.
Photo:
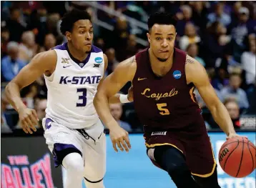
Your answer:
[[[152,29],[154,24],[162,24],[162,25],[173,25],[176,27],[177,20],[175,19],[173,14],[169,14],[167,12],[155,12],[149,16],[147,20],[147,26]]]

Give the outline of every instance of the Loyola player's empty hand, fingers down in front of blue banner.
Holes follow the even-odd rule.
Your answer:
[[[117,124],[117,122],[116,122]],[[129,152],[129,149],[131,149],[131,144],[129,143],[129,136],[128,132],[126,132],[122,127],[120,127],[118,124],[116,126],[112,126],[111,129],[109,129],[109,137],[112,141],[114,151],[118,152],[117,147],[123,152],[124,149],[126,152]]]

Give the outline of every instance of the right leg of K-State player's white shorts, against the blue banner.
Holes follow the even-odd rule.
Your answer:
[[[84,178],[88,182],[99,182],[106,173],[106,135],[94,144],[84,146]]]

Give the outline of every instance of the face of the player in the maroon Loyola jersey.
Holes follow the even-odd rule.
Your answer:
[[[174,41],[176,30],[173,25],[154,24],[151,31],[147,34],[147,39],[150,44],[154,56],[159,61],[167,61],[174,50]]]

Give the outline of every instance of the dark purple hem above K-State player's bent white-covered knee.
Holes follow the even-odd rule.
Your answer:
[[[62,164],[64,157],[74,152],[77,152],[82,156],[82,152],[72,144],[55,143],[52,151],[52,154],[54,155],[54,167],[59,167],[59,165]]]

